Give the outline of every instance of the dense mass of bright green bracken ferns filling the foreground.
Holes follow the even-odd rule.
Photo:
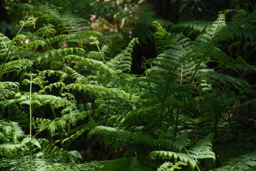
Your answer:
[[[141,76],[128,73],[137,38],[110,58],[111,47],[96,32],[75,39],[82,25],[58,25],[67,35],[55,35],[52,24],[23,32],[35,27],[37,18],[29,17],[12,40],[0,33],[0,168],[255,170],[254,134],[245,132],[239,116],[255,107],[255,85],[244,76],[256,66],[241,56],[233,60],[222,45],[254,47],[255,35],[253,42],[241,35],[255,33],[256,13],[240,10],[226,23],[230,12],[220,12],[194,41],[153,22],[158,53]],[[77,46],[60,48],[69,40]],[[209,68],[209,62],[218,65]],[[70,151],[82,138],[91,142],[87,150]]]

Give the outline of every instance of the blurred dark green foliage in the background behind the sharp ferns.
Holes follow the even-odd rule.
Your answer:
[[[88,44],[91,41],[88,35],[94,35],[110,47],[114,56],[131,38],[139,38],[140,46],[133,54],[134,74],[144,72],[143,61],[156,57],[152,21],[159,22],[169,32],[183,32],[193,40],[209,28],[219,11],[252,12],[256,8],[255,0],[0,0],[0,3],[0,32],[10,38],[17,33],[19,21],[29,16],[38,17],[35,30],[51,23],[58,34],[72,35],[62,44],[65,47],[79,45],[94,50],[95,46]],[[237,38],[255,39],[249,32]],[[231,48],[232,58],[242,54],[249,64],[256,64],[250,49],[244,52],[242,43],[237,46],[223,48]]]

